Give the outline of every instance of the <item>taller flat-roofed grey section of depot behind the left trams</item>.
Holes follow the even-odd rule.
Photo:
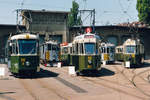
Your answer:
[[[38,33],[43,42],[48,36],[59,43],[68,41],[67,17],[69,12],[21,10],[22,24],[27,30]]]

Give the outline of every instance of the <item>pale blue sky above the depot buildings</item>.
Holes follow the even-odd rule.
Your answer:
[[[16,9],[70,11],[72,0],[0,0],[0,24],[16,24]],[[138,21],[137,0],[76,0],[80,9],[96,10],[96,25]],[[21,3],[23,2],[23,6]],[[85,15],[86,16],[86,15]]]

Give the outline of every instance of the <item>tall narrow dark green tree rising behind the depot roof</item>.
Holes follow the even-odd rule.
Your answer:
[[[79,12],[79,4],[74,0],[74,1],[72,1],[71,12],[68,15],[68,26],[69,27],[82,24],[81,17],[78,16],[78,12]]]

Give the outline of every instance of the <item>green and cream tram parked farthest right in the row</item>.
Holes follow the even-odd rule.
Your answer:
[[[123,43],[124,65],[128,61],[130,65],[140,65],[144,59],[144,46],[139,39],[127,39]]]

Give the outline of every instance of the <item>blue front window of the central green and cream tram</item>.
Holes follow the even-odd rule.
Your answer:
[[[95,54],[95,43],[85,43],[85,54]]]

